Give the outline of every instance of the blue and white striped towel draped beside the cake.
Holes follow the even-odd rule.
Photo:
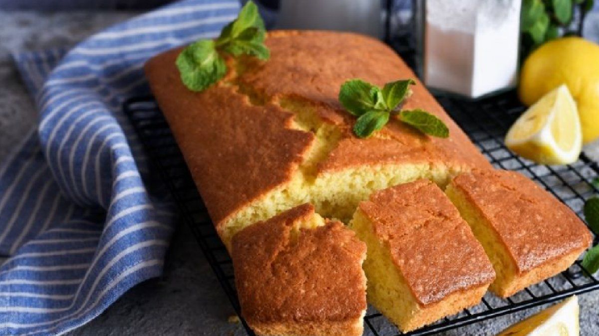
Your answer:
[[[142,66],[216,36],[235,0],[187,0],[92,36],[71,51],[16,54],[37,132],[0,166],[0,335],[62,334],[162,272],[172,205],[144,175],[121,111],[148,94]]]

